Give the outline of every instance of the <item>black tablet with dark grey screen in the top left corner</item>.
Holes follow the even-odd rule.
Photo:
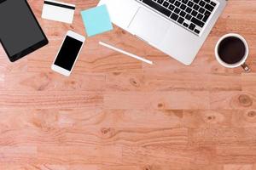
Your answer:
[[[12,62],[48,43],[26,0],[0,0],[0,41]]]

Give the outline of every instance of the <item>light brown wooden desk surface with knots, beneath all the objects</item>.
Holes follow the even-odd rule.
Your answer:
[[[87,39],[69,78],[50,65],[68,30],[84,34],[79,11],[97,1],[65,2],[78,7],[72,26],[42,20],[43,1],[29,1],[48,46],[16,63],[0,49],[1,170],[256,169],[256,0],[229,1],[193,65],[115,27]],[[215,60],[229,32],[246,37],[252,73]]]

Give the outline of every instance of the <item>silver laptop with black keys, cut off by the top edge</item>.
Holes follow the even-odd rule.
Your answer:
[[[190,65],[226,0],[101,0],[113,24]]]

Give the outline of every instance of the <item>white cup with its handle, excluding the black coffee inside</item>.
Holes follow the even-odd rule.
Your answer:
[[[240,39],[241,42],[244,43],[244,46],[245,46],[245,48],[246,48],[245,54],[244,54],[243,58],[242,58],[240,61],[238,61],[237,63],[235,63],[235,64],[228,64],[228,63],[224,62],[224,61],[220,58],[220,56],[219,56],[219,54],[218,54],[219,44],[220,44],[225,38],[227,38],[227,37],[236,37],[236,38]],[[216,59],[218,60],[218,63],[219,63],[220,65],[223,65],[224,67],[227,67],[227,68],[236,68],[236,67],[241,66],[244,71],[246,71],[246,72],[251,71],[251,69],[249,68],[249,66],[246,64],[246,60],[247,60],[248,56],[249,56],[249,47],[248,47],[247,41],[245,40],[244,37],[241,37],[241,35],[236,34],[236,33],[229,33],[229,34],[224,35],[223,37],[221,37],[221,38],[218,40],[218,42],[217,42],[217,44],[216,44],[216,47],[215,47],[215,57],[216,57]]]

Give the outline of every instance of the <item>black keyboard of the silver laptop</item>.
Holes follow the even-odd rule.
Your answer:
[[[217,3],[212,0],[137,0],[160,14],[164,14],[177,25],[200,35]]]

